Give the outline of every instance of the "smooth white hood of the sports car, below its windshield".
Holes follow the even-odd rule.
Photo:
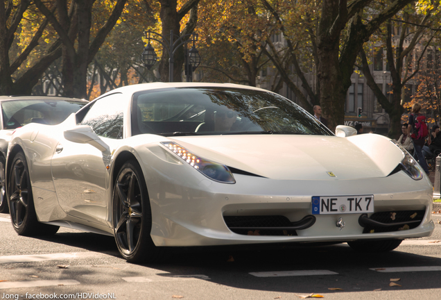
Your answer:
[[[388,176],[404,153],[382,135],[209,135],[171,138],[197,156],[279,180]]]

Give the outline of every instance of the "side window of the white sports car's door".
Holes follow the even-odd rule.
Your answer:
[[[81,125],[89,125],[103,138],[123,138],[123,110],[126,101],[122,94],[111,94],[101,98],[85,115]]]

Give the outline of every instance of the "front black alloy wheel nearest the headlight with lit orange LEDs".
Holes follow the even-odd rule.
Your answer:
[[[113,227],[121,256],[130,263],[159,260],[150,231],[152,215],[141,167],[131,160],[121,167],[113,192]]]

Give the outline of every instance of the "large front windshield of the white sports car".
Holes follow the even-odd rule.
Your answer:
[[[271,92],[234,88],[171,88],[137,92],[132,135],[331,135],[295,103]]]

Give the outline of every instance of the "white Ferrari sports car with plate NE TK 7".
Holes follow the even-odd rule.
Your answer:
[[[148,83],[107,92],[12,135],[20,235],[69,226],[113,235],[130,262],[162,247],[348,242],[390,251],[431,235],[432,185],[381,135],[336,135],[267,90]]]

